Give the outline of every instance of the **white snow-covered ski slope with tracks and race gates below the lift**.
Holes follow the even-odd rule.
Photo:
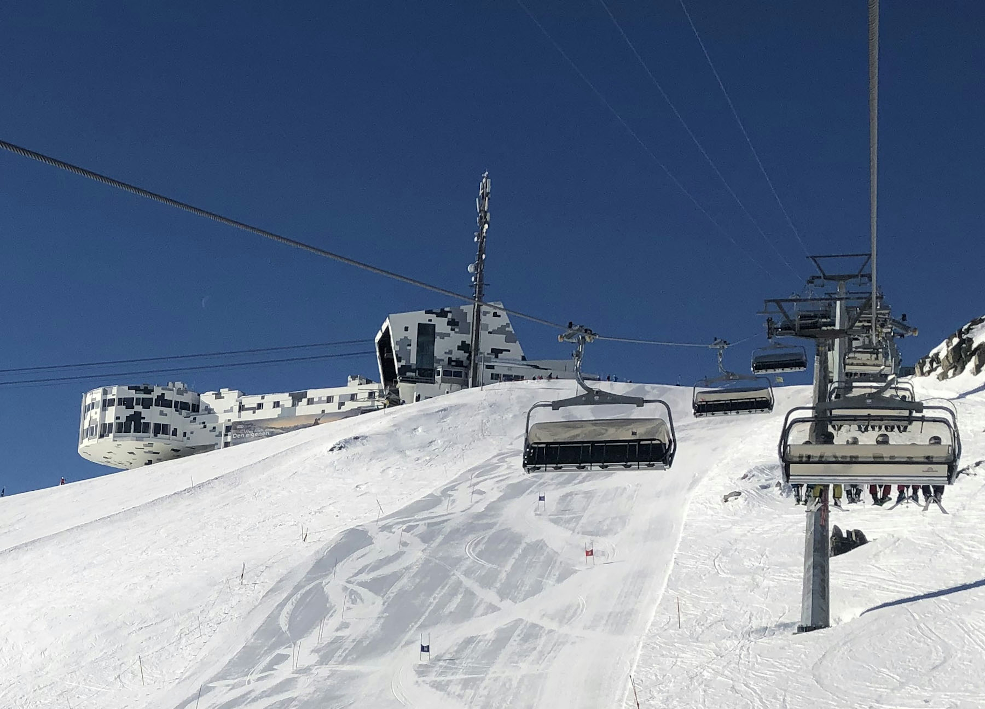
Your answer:
[[[978,383],[917,384],[985,459]],[[981,705],[985,478],[948,515],[832,512],[871,543],[793,635],[775,449],[809,389],[694,420],[689,388],[607,385],[670,402],[671,471],[523,474],[527,408],[573,393],[528,382],[0,499],[0,706],[629,707],[630,668],[642,706]]]

